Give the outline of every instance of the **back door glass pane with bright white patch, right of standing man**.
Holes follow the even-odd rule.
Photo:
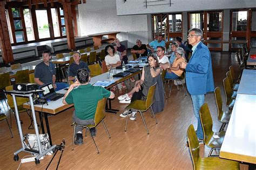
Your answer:
[[[247,11],[235,11],[232,13],[232,31],[246,31]]]

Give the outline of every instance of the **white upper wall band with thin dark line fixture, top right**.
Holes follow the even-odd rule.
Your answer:
[[[156,6],[145,6],[145,0],[116,0],[117,15],[138,15],[146,13],[166,13],[183,11],[201,11],[218,9],[255,8],[255,0],[164,0],[150,2],[147,4],[166,4]],[[167,4],[169,3],[169,4]]]

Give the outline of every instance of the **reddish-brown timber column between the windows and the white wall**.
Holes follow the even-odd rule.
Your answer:
[[[64,2],[63,3],[63,10],[65,16],[65,26],[66,26],[66,38],[68,40],[68,48],[70,50],[76,49],[75,45],[75,37],[74,37],[74,30],[73,30],[73,19],[72,19],[72,12],[71,12],[71,2]]]

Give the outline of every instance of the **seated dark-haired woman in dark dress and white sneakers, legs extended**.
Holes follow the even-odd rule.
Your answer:
[[[157,56],[149,55],[147,60],[149,61],[149,65],[143,67],[142,76],[140,80],[135,82],[133,89],[129,93],[118,97],[120,103],[131,103],[134,100],[141,100],[143,96],[147,96],[150,86],[155,82],[154,77],[157,77],[161,73]],[[132,114],[130,119],[134,120],[136,113],[136,111],[130,111],[128,113],[126,110],[120,116],[125,117]]]

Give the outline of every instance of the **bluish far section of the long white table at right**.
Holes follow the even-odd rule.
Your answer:
[[[237,93],[256,95],[256,70],[245,69],[242,72],[242,77]]]

